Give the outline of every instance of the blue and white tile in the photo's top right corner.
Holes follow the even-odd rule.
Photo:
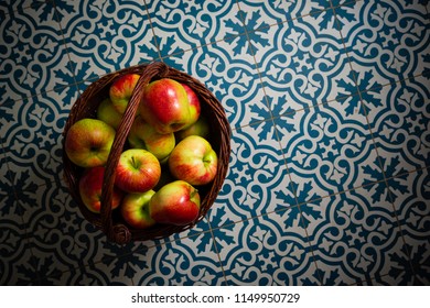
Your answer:
[[[428,70],[430,23],[421,3],[357,1],[335,11],[361,90]]]

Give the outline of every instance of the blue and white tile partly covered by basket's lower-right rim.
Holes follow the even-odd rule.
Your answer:
[[[295,206],[272,121],[233,131],[227,177],[208,219],[212,228]]]

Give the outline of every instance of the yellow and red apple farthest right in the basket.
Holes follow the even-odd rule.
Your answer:
[[[198,135],[190,135],[178,143],[169,157],[173,177],[191,185],[205,185],[216,175],[218,158],[211,144]]]

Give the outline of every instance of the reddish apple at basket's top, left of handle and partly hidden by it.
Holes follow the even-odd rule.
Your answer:
[[[131,95],[135,90],[136,84],[140,76],[138,74],[126,74],[118,77],[109,88],[109,97],[112,101],[114,108],[123,114]]]

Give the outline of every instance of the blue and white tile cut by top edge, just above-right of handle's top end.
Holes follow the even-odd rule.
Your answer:
[[[235,1],[148,1],[162,57],[245,33]]]

